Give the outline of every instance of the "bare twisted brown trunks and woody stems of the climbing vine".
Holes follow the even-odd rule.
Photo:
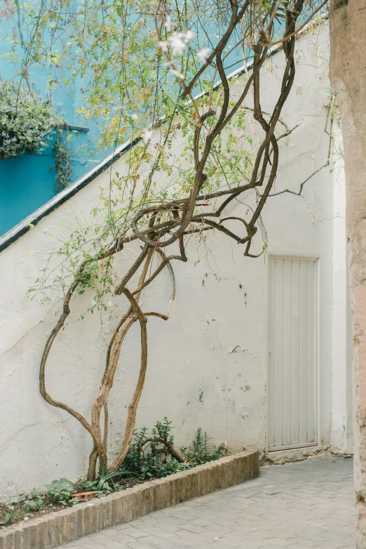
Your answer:
[[[239,4],[241,6],[240,9]],[[76,418],[81,425],[83,425],[83,428],[85,428],[93,438],[93,451],[90,454],[88,468],[89,480],[95,479],[98,461],[100,468],[104,468],[104,471],[109,470],[111,472],[115,472],[118,470],[130,447],[133,437],[133,430],[135,428],[137,406],[142,395],[144,378],[147,371],[147,319],[150,316],[155,316],[163,320],[168,320],[172,301],[175,297],[175,278],[174,273],[172,272],[172,260],[179,260],[183,262],[187,261],[185,245],[191,236],[193,234],[201,235],[205,231],[212,230],[223,232],[238,244],[245,246],[245,251],[243,253],[244,256],[258,257],[266,251],[266,239],[264,240],[262,250],[259,251],[259,253],[252,253],[251,246],[255,234],[257,233],[257,225],[262,227],[261,213],[264,208],[264,204],[266,204],[266,199],[270,196],[270,192],[273,189],[273,185],[276,180],[279,159],[278,140],[291,133],[290,129],[286,126],[287,133],[277,138],[275,130],[278,122],[280,122],[281,111],[285,105],[285,101],[287,100],[294,81],[295,41],[297,33],[304,28],[306,23],[311,20],[313,15],[320,10],[324,3],[318,4],[311,0],[309,2],[309,6],[307,6],[308,14],[310,10],[311,15],[308,18],[304,15],[305,20],[301,23],[297,23],[297,20],[304,8],[304,0],[294,0],[292,7],[287,6],[287,4],[286,7],[281,7],[280,4],[280,2],[272,0],[264,12],[262,12],[262,8],[259,6],[259,12],[255,15],[255,20],[257,20],[257,17],[259,18],[258,29],[260,32],[257,33],[255,30],[253,31],[251,19],[252,8],[256,9],[257,4],[255,2],[251,2],[250,0],[244,0],[243,2],[238,2],[238,0],[230,0],[228,2],[228,8],[230,10],[229,13],[231,13],[231,15],[229,18],[228,27],[222,36],[222,39],[218,42],[217,46],[212,51],[212,54],[205,60],[205,62],[203,62],[203,65],[196,73],[196,76],[192,77],[190,84],[185,84],[184,80],[179,77],[179,86],[182,86],[183,89],[180,100],[185,97],[189,97],[191,100],[191,107],[188,104],[188,106],[186,105],[184,107],[184,118],[187,117],[187,112],[192,113],[191,137],[193,139],[192,160],[194,164],[194,178],[192,178],[189,182],[189,189],[184,190],[185,197],[177,198],[173,193],[171,197],[165,197],[164,195],[163,198],[156,200],[156,197],[151,195],[150,199],[148,199],[149,187],[152,183],[155,185],[155,182],[152,180],[154,171],[161,168],[161,164],[159,164],[162,161],[161,152],[158,152],[149,168],[149,178],[145,187],[146,192],[142,194],[139,201],[137,201],[137,204],[134,204],[135,199],[133,199],[133,191],[135,190],[135,186],[133,186],[130,190],[131,194],[129,206],[126,211],[130,209],[130,211],[133,212],[133,217],[131,216],[130,218],[126,218],[123,223],[121,223],[121,221],[119,222],[121,223],[121,225],[118,225],[119,228],[115,228],[115,230],[112,231],[114,241],[107,246],[107,249],[104,241],[101,241],[102,244],[97,244],[97,241],[95,241],[95,244],[97,244],[97,246],[101,245],[102,249],[99,253],[93,251],[92,256],[87,256],[87,258],[79,265],[74,281],[69,286],[65,296],[62,315],[46,341],[39,373],[41,395],[44,399],[46,399],[48,404],[64,409],[69,414],[74,416],[74,418]],[[163,25],[166,23],[168,11],[166,11],[165,4],[163,5],[160,0],[158,0],[156,6],[154,22],[156,26],[156,37],[160,43],[161,28],[163,28]],[[269,10],[269,8],[271,9]],[[261,107],[260,71],[264,65],[264,61],[268,58],[271,51],[269,48],[273,45],[271,38],[273,38],[276,30],[273,25],[273,20],[280,8],[282,13],[278,13],[278,16],[285,18],[285,27],[283,27],[283,38],[279,42],[283,42],[283,51],[285,52],[286,63],[283,70],[283,76],[281,77],[282,84],[280,87],[280,92],[278,93],[276,105],[273,112],[269,114],[264,113]],[[243,84],[243,89],[241,90],[240,96],[237,97],[230,88],[229,81],[224,71],[224,60],[226,59],[226,53],[224,50],[234,29],[238,27],[240,21],[245,17],[248,18],[249,26],[247,31],[243,34],[242,40],[247,41],[250,35],[252,35],[253,40],[255,39],[251,46],[254,51],[254,58],[251,74],[248,77],[248,80]],[[257,22],[255,22],[255,25],[257,25]],[[299,26],[297,27],[297,25]],[[278,44],[279,42],[276,41],[274,44]],[[173,60],[170,59],[170,54],[168,55],[168,49],[165,51],[165,56],[167,57],[168,65],[174,68],[175,65]],[[208,69],[214,58],[215,72],[212,76],[212,86],[208,92],[208,95],[205,95],[203,100],[201,100],[200,109],[198,110],[196,100],[191,95],[191,90],[194,88],[195,82],[199,78],[199,75]],[[212,94],[214,91],[217,73],[221,79],[222,94],[219,98],[217,98],[217,100],[215,100],[214,95]],[[243,102],[247,97],[251,86],[253,88],[253,97],[255,102],[254,109],[252,110],[253,116],[262,127],[264,135],[262,137],[262,142],[259,145],[259,149],[255,153],[250,176],[248,174],[248,176],[245,176],[243,180],[240,179],[240,182],[236,182],[233,187],[229,184],[224,184],[224,188],[219,188],[217,190],[214,189],[212,192],[207,192],[207,190],[202,187],[205,181],[208,180],[208,175],[205,171],[210,172],[210,162],[215,161],[215,165],[217,164],[214,146],[215,140],[216,143],[220,143],[218,138],[222,134],[224,128],[226,128],[226,126],[229,127],[228,125],[231,123],[231,119],[243,107]],[[212,101],[217,101],[216,106],[219,111],[218,114],[215,114],[215,110],[212,110]],[[201,111],[202,113],[200,114]],[[172,112],[171,121],[173,117],[177,116],[177,114],[179,114],[179,110],[177,110],[177,107],[175,106],[175,110]],[[268,120],[264,118],[264,114],[266,114]],[[282,122],[280,123],[283,124]],[[164,143],[167,142],[166,140],[170,135],[171,127],[171,123],[166,126],[167,129]],[[170,154],[170,156],[172,156],[172,154]],[[163,160],[165,161],[165,159]],[[138,168],[144,168],[144,157],[142,157],[139,162],[140,164],[138,164]],[[133,169],[135,170],[136,166]],[[224,173],[223,175],[225,176],[225,181],[227,183],[226,174]],[[140,177],[140,175],[138,177]],[[309,178],[306,180],[309,180]],[[304,183],[301,184],[300,192]],[[246,219],[238,218],[236,216],[222,217],[222,213],[224,213],[226,206],[229,206],[232,201],[238,199],[241,194],[247,191],[255,191],[257,196],[257,205],[255,206],[254,211],[252,211],[252,214]],[[287,192],[287,190],[285,192]],[[300,194],[300,192],[296,194]],[[210,207],[205,209],[205,206]],[[242,231],[240,234],[233,232],[231,229],[231,223],[229,224],[229,227],[224,224],[226,221],[232,220],[241,222],[241,225],[237,224],[237,226],[240,226]],[[107,230],[108,235],[109,233],[110,226]],[[264,234],[266,234],[265,230]],[[121,277],[120,282],[114,287],[116,296],[121,296],[123,294],[123,296],[128,299],[129,307],[126,315],[123,315],[123,317],[119,320],[118,325],[116,326],[116,329],[111,337],[109,348],[107,350],[104,375],[102,377],[100,389],[93,403],[91,421],[89,422],[71,406],[68,406],[63,402],[56,401],[48,394],[46,390],[46,362],[50,349],[53,345],[53,341],[60,330],[65,326],[65,322],[70,313],[70,303],[74,299],[76,289],[83,280],[83,274],[85,274],[85,270],[87,271],[86,267],[93,264],[93,262],[100,262],[105,258],[114,256],[123,250],[124,244],[131,244],[132,242],[135,244],[143,244],[143,246],[140,246],[142,251],[135,260],[135,263],[133,263],[133,265],[126,270],[123,277]],[[163,249],[167,248],[171,244],[175,244],[176,248],[179,249],[178,255],[165,255]],[[151,258],[154,253],[157,253],[161,257],[161,260],[158,267],[156,267],[152,274],[150,274],[147,278],[147,272],[149,266],[151,266]],[[154,281],[158,274],[165,270],[165,267],[170,274],[170,279],[172,282],[172,294],[170,296],[168,310],[166,314],[159,311],[145,312],[139,304],[141,292]],[[131,291],[128,289],[128,284],[131,284],[134,275],[137,274],[140,269],[141,274],[137,288],[135,291]],[[121,440],[118,454],[113,463],[108,466],[107,434],[109,392],[114,383],[114,376],[118,367],[118,359],[121,355],[123,340],[130,327],[133,326],[134,322],[139,322],[141,330],[140,373],[133,398],[128,406],[125,432],[123,439]],[[104,410],[103,428],[101,426],[102,409]],[[170,448],[166,441],[164,444],[170,452],[170,455],[174,455],[174,449]],[[179,454],[176,454],[175,458],[177,458],[178,461],[182,461],[182,456],[179,456]]]

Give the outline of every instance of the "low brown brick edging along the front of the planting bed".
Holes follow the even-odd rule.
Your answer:
[[[259,451],[247,449],[105,498],[51,512],[0,531],[0,549],[51,549],[259,475]]]

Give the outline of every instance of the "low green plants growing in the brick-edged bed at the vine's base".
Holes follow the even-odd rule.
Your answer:
[[[179,452],[174,447],[174,437],[171,431],[172,422],[168,421],[166,417],[163,421],[156,421],[150,433],[146,427],[135,430],[133,443],[130,445],[130,450],[120,470],[105,472],[104,463],[102,463],[97,479],[83,482],[83,488],[88,491],[96,491],[97,498],[103,498],[121,489],[122,477],[135,477],[137,482],[138,479],[148,480],[166,477],[173,475],[175,472],[191,469],[201,463],[216,460],[230,453],[226,444],[216,446],[212,442],[212,438],[208,436],[207,432],[203,432],[201,428],[196,430],[189,447],[182,447]],[[128,485],[130,484],[129,480]],[[1,499],[0,503],[6,506],[6,514],[3,520],[0,521],[0,527],[18,522],[22,520],[25,513],[37,512],[41,508],[46,511],[48,508],[58,507],[59,505],[65,507],[67,505],[76,505],[76,503],[79,503],[78,498],[71,498],[70,496],[74,491],[79,491],[80,486],[79,483],[74,486],[71,480],[62,477],[53,480],[51,484],[46,484],[46,494],[40,494],[34,488],[25,501],[22,499],[20,501],[19,497]],[[16,503],[20,503],[17,508],[18,512],[15,510]]]

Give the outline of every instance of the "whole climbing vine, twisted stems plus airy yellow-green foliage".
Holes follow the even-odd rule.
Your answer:
[[[266,251],[261,214],[278,171],[277,129],[284,125],[280,116],[294,82],[297,35],[325,2],[85,0],[81,4],[76,12],[67,1],[41,13],[34,8],[34,18],[43,27],[49,23],[52,32],[64,32],[69,25],[72,32],[65,32],[62,53],[46,51],[39,46],[37,25],[29,57],[37,54],[38,60],[55,65],[65,58],[69,67],[77,65],[77,70],[72,69],[75,79],[89,75],[89,84],[81,90],[85,97],[81,112],[104,117],[104,145],[116,146],[129,138],[133,146],[123,173],[111,176],[102,189],[93,220],[70,234],[55,252],[59,268],[46,266],[32,291],[41,292],[43,300],[53,299],[55,291],[64,296],[62,314],[43,351],[40,391],[48,404],[67,411],[90,434],[88,479],[93,481],[98,463],[114,472],[128,455],[147,373],[149,317],[168,320],[176,290],[172,263],[187,262],[189,240],[222,232],[242,246],[248,258]],[[261,70],[276,46],[283,48],[285,64],[278,74],[280,86],[273,89],[273,109],[264,112]],[[233,52],[240,55],[246,74],[229,81],[226,74]],[[55,79],[52,73],[50,84]],[[287,128],[283,135],[290,133]],[[254,207],[245,216],[226,214],[243,195],[254,198]],[[135,259],[126,257],[126,269],[120,272],[114,258],[123,256],[125,248],[135,249]],[[142,294],[160,274],[168,275],[171,282],[167,310],[146,310]],[[127,305],[115,322],[90,418],[55,400],[46,386],[53,342],[61,330],[67,333],[76,293],[86,290],[93,292],[90,312],[108,311],[112,299]],[[135,323],[140,326],[140,371],[124,433],[110,461],[109,395],[123,341]]]

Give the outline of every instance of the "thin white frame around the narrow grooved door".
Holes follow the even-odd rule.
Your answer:
[[[321,333],[320,333],[320,256],[309,253],[297,254],[297,253],[269,253],[268,261],[266,262],[266,454],[275,454],[276,452],[296,451],[301,449],[319,449],[321,444],[321,376],[320,376],[320,345],[321,345]],[[269,259],[304,259],[316,261],[316,442],[311,444],[293,444],[289,447],[278,447],[276,450],[269,450]]]

